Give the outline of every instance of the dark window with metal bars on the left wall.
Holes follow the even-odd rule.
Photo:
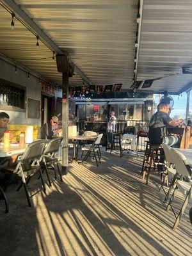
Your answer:
[[[0,82],[0,104],[24,109],[25,90]]]

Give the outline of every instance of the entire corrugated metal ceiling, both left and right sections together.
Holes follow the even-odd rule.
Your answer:
[[[3,2],[10,2],[3,1]],[[123,83],[129,90],[134,74],[137,0],[15,0],[15,3],[51,38],[67,51],[93,84]],[[192,1],[144,0],[137,80],[153,79],[154,92],[180,92],[191,84],[182,67],[192,66]],[[52,52],[43,44],[36,51],[36,38],[0,8],[0,52],[16,59],[52,81],[60,81],[56,62],[19,60],[47,58]],[[175,76],[170,76],[175,74]],[[81,77],[70,79],[81,85]]]

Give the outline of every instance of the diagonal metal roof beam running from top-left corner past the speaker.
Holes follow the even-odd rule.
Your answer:
[[[67,52],[61,51],[61,49],[56,45],[54,42],[52,42],[51,38],[45,34],[45,32],[40,29],[36,23],[13,1],[13,0],[1,0],[1,3],[7,7],[9,10],[11,10],[13,13],[15,13],[16,17],[19,17],[24,24],[31,29],[36,35],[40,37],[40,40],[44,42],[46,45],[48,45],[52,51],[56,52],[57,54],[66,54]],[[70,58],[69,58],[70,60]],[[72,61],[72,60],[70,60]],[[73,61],[72,61],[73,62]],[[75,71],[81,78],[86,81],[88,84],[93,84],[88,77],[80,70],[79,67],[75,65]]]

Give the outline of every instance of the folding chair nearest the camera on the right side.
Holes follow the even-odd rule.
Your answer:
[[[188,205],[189,199],[192,197],[192,171],[186,157],[181,152],[177,151],[175,148],[172,148],[171,153],[177,173],[180,175],[180,179],[176,180],[176,186],[166,207],[166,211],[168,211],[168,209],[170,209],[171,207],[173,214],[176,218],[173,225],[173,229],[175,229],[179,225],[180,218],[182,217],[182,214],[184,213],[186,206]],[[182,207],[180,208],[179,214],[175,213],[172,206],[176,190],[181,191],[182,194],[185,196],[185,200],[182,204]]]

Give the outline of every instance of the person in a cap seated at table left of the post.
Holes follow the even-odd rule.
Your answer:
[[[49,122],[45,123],[41,129],[41,138],[51,140],[52,136],[59,134],[61,129],[58,129],[58,116],[52,116]]]

